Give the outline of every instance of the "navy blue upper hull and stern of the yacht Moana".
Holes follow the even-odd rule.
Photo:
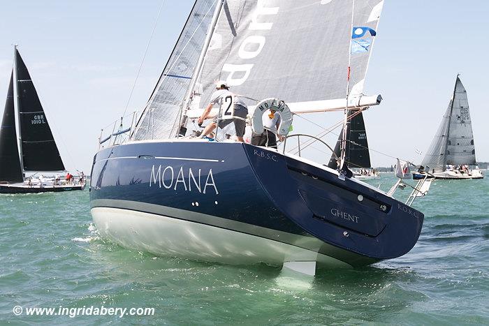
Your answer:
[[[320,239],[324,246],[315,250],[353,266],[404,255],[423,225],[421,212],[362,182],[241,143],[103,149],[94,157],[90,191],[92,208],[170,207],[230,221],[220,228],[249,225],[232,229],[238,232],[257,226]]]

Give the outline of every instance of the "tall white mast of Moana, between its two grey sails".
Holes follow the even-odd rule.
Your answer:
[[[177,129],[177,134],[180,133],[180,128],[184,126],[185,122],[187,121],[187,110],[189,108],[190,98],[192,96],[192,93],[194,92],[198,75],[204,64],[205,53],[209,48],[212,34],[214,34],[214,29],[216,27],[217,20],[219,19],[219,14],[221,13],[222,6],[224,6],[224,2],[226,0],[218,0],[218,1],[219,3],[217,3],[216,8],[214,9],[214,13],[212,14],[212,21],[210,22],[209,29],[207,30],[207,36],[205,37],[204,46],[202,47],[202,52],[200,52],[200,56],[198,57],[198,61],[197,61],[197,66],[194,70],[194,74],[191,77],[189,89],[187,89],[187,94],[185,94],[184,103],[182,105],[182,108],[180,109],[180,117],[178,119],[180,124],[179,124],[179,128]]]

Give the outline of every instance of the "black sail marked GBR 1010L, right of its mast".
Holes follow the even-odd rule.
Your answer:
[[[65,170],[31,75],[17,49],[15,67],[24,170]]]

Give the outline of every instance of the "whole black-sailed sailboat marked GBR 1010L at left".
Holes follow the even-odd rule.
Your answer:
[[[20,144],[17,144],[17,127]],[[48,117],[15,45],[14,68],[0,129],[0,193],[45,193],[85,188],[83,179],[61,180],[58,176],[38,175],[40,172],[65,171]],[[36,173],[25,177],[25,172]]]

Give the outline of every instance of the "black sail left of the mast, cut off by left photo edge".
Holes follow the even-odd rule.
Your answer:
[[[19,147],[15,132],[15,111],[13,97],[13,71],[8,85],[7,101],[0,127],[0,181],[22,182]]]

